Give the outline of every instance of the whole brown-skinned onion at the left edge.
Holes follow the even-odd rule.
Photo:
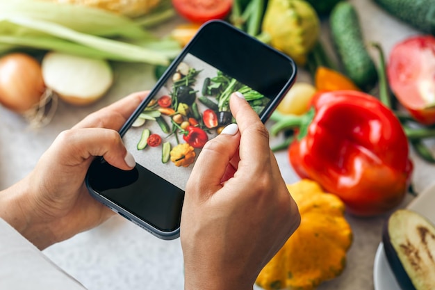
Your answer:
[[[33,110],[45,92],[40,64],[22,53],[0,58],[0,104],[16,113]]]

